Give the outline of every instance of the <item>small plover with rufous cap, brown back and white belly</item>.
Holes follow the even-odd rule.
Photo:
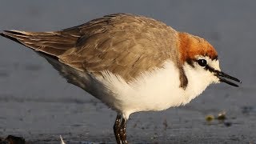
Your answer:
[[[184,106],[212,83],[242,83],[222,72],[206,39],[137,14],[108,14],[64,30],[0,34],[34,50],[67,82],[115,110],[118,144],[128,143],[130,114]]]

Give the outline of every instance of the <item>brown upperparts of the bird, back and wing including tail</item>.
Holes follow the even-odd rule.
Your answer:
[[[2,34],[34,50],[54,55],[75,69],[100,74],[109,70],[126,81],[146,70],[161,67],[167,58],[174,62],[177,32],[152,18],[111,14],[69,29]]]

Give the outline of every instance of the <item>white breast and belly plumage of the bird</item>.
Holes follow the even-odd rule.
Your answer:
[[[194,74],[194,70],[186,68],[185,72],[193,77],[191,74]],[[103,75],[104,77],[97,79],[106,86],[109,93],[100,99],[126,118],[138,111],[166,110],[172,106],[185,105],[210,84],[203,82],[201,86],[196,77],[188,78],[188,86],[183,90],[179,87],[178,68],[173,62],[165,62],[164,68],[143,73],[130,83],[110,72],[104,72]],[[194,89],[194,84],[198,88]]]

